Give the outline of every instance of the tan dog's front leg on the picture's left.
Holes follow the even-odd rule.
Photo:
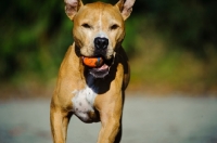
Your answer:
[[[67,127],[72,113],[64,112],[60,107],[51,104],[50,122],[53,136],[53,143],[65,143],[67,136]]]

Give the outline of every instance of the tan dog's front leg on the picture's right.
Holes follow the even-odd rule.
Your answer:
[[[122,138],[122,95],[112,101],[103,101],[101,104],[100,118],[102,128],[99,133],[98,143],[119,143]]]

